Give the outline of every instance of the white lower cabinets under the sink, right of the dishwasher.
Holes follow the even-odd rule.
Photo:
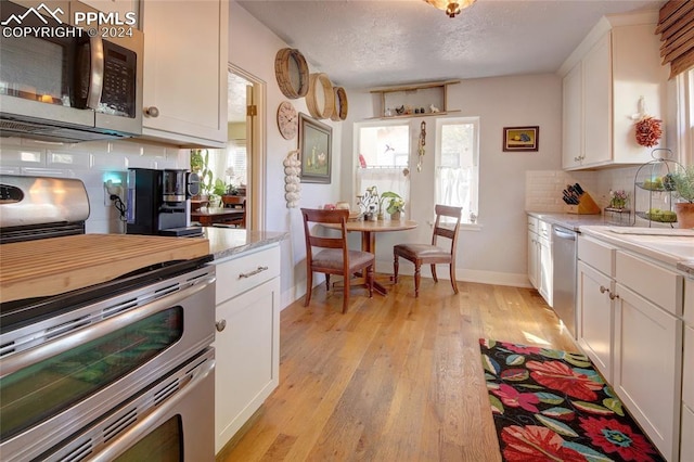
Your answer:
[[[694,461],[683,455],[694,433],[682,394],[682,274],[584,234],[578,258],[579,346],[663,455]]]

